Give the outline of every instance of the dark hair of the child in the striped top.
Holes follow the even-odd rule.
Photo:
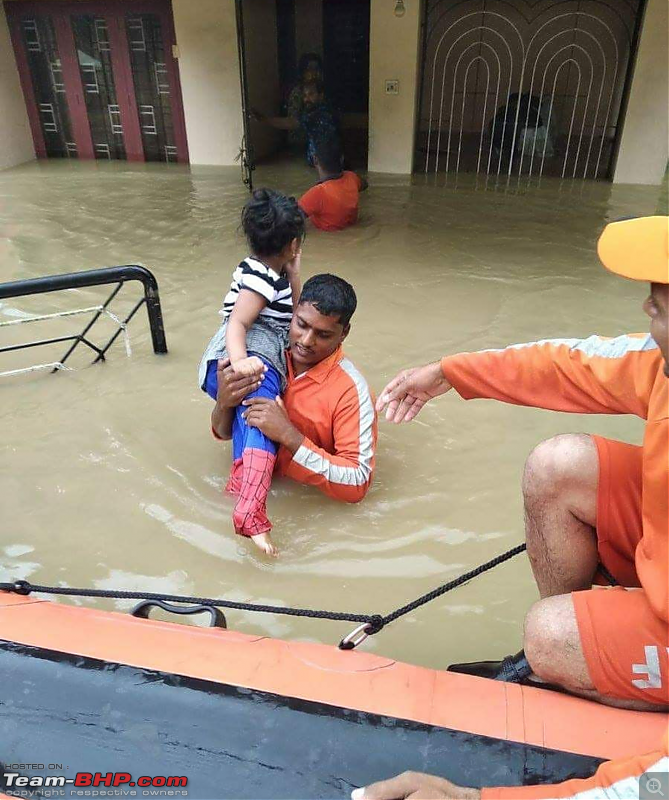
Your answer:
[[[304,214],[294,197],[256,189],[242,209],[242,228],[257,256],[275,256],[293,239],[304,238]]]

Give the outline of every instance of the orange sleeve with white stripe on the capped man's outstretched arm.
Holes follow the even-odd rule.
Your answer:
[[[460,353],[441,361],[444,377],[466,400],[646,418],[659,348],[648,335],[551,339],[504,350]]]

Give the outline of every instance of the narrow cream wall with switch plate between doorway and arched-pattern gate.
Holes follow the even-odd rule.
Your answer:
[[[420,2],[407,0],[396,17],[395,0],[371,0],[369,54],[370,172],[411,172],[418,88]],[[399,80],[398,95],[385,93]]]

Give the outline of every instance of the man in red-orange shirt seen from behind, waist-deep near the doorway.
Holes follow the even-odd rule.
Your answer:
[[[358,221],[358,198],[367,181],[355,172],[342,170],[339,142],[322,139],[316,143],[314,164],[318,183],[300,198],[299,205],[322,231],[340,231]]]

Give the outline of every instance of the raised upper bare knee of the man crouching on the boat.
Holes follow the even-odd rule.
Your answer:
[[[528,456],[523,473],[526,501],[569,491],[596,495],[599,479],[597,446],[586,433],[553,436]]]

